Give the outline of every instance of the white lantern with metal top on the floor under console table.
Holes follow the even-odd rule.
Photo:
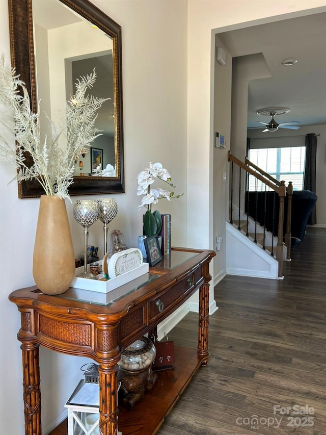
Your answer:
[[[85,379],[67,400],[68,435],[100,435],[99,429],[99,373],[98,365],[88,364],[84,370]],[[120,386],[119,386],[120,387]],[[122,435],[118,431],[118,435]]]

